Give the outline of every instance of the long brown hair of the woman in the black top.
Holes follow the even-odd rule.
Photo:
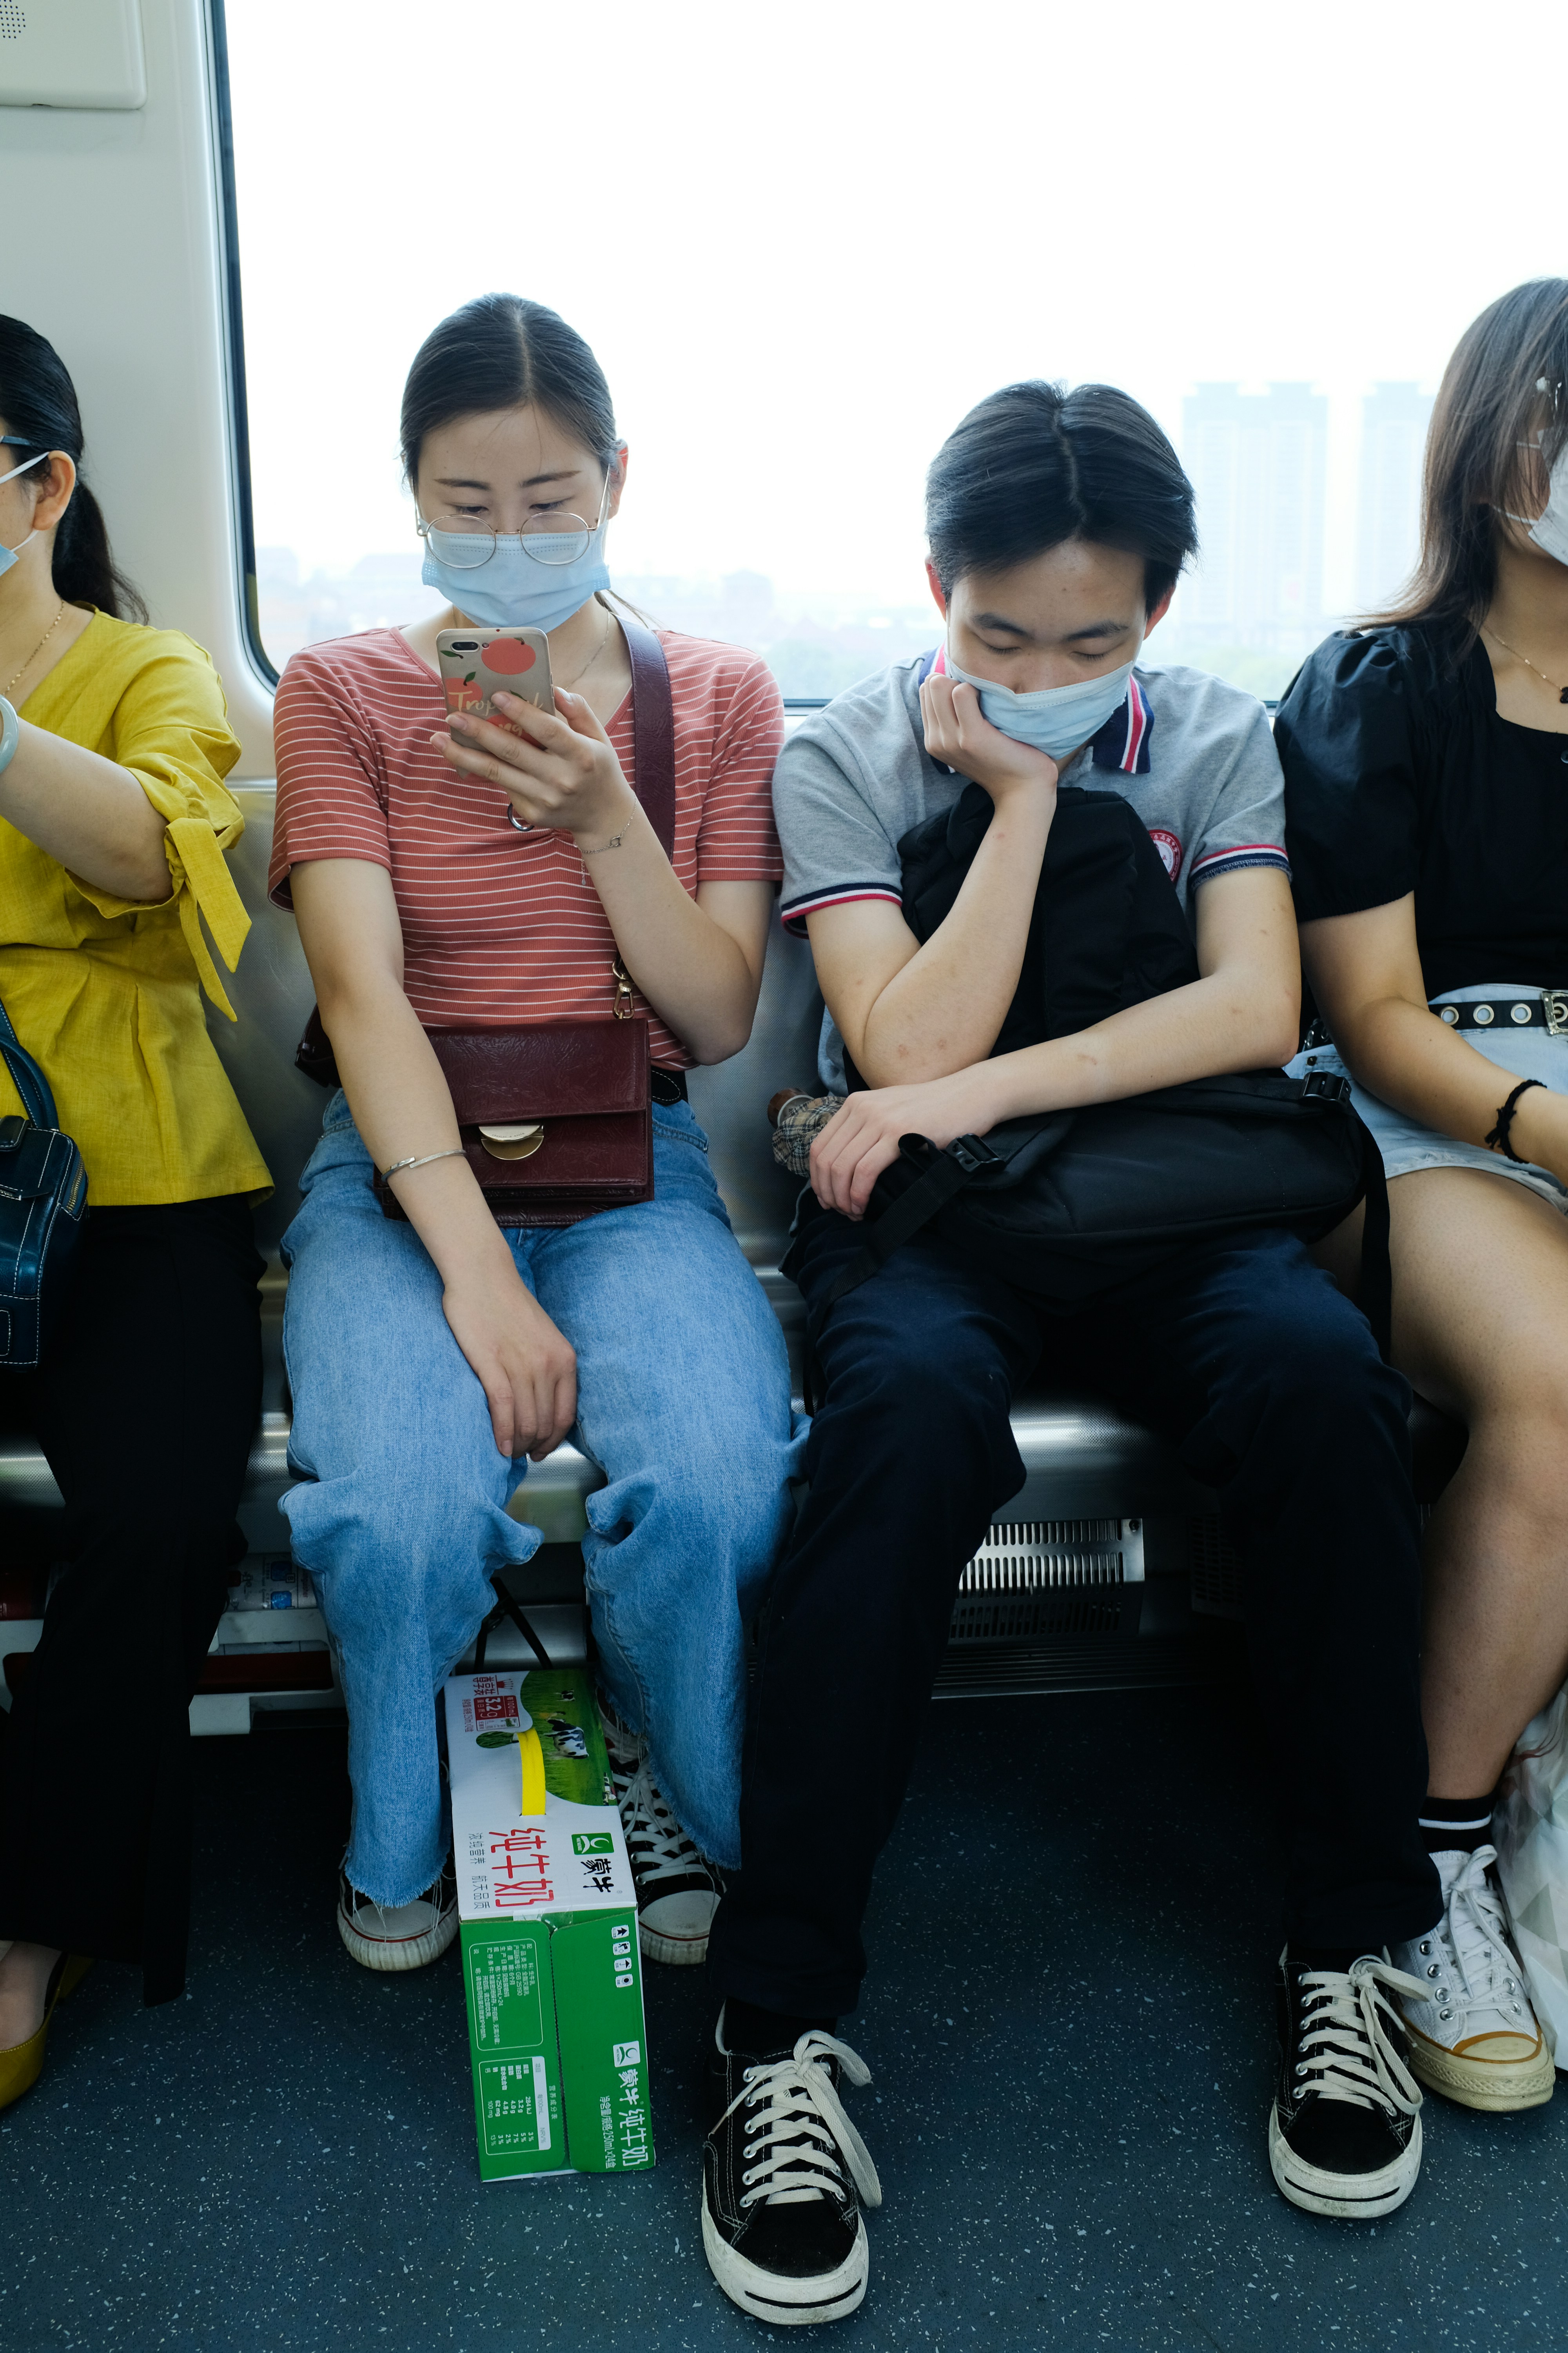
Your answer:
[[[1540,435],[1540,459],[1521,447]],[[1568,278],[1500,294],[1460,336],[1427,428],[1420,560],[1361,628],[1425,621],[1453,659],[1472,649],[1497,591],[1497,513],[1540,506],[1537,466],[1568,440]]]

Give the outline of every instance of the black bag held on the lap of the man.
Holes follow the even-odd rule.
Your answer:
[[[957,899],[987,824],[990,798],[971,784],[900,840],[903,913],[919,939]],[[1197,976],[1187,918],[1133,805],[1065,786],[992,1052],[1072,1035]],[[1328,1071],[1194,1078],[1006,1120],[945,1151],[900,1136],[898,1153],[872,1191],[865,1247],[827,1289],[823,1315],[924,1226],[1063,1315],[1227,1233],[1284,1228],[1316,1242],[1366,1200],[1361,1306],[1387,1355],[1382,1155],[1349,1080]]]

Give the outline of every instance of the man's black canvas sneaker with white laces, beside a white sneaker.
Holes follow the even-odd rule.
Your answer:
[[[1349,1969],[1279,1955],[1279,2092],[1269,2165],[1307,2214],[1392,2214],[1420,2172],[1420,2085],[1389,1993],[1425,1986],[1387,1958]]]

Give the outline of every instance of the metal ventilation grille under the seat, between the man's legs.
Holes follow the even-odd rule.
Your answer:
[[[1009,1520],[964,1569],[947,1640],[1131,1633],[1140,1588],[1143,1520]]]

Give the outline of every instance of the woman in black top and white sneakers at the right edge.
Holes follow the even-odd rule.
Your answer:
[[[1415,2073],[1552,2097],[1490,1864],[1497,1777],[1568,1673],[1568,280],[1460,341],[1422,555],[1276,725],[1302,958],[1389,1172],[1394,1355],[1469,1428],[1427,1529],[1422,1824],[1448,1913],[1394,1960]],[[1342,1056],[1342,1061],[1340,1061]]]

